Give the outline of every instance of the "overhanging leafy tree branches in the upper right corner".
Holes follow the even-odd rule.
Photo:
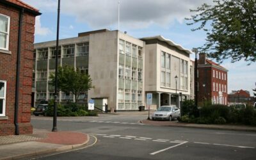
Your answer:
[[[256,0],[215,0],[213,5],[202,4],[191,15],[188,25],[200,24],[192,31],[203,29],[206,42],[197,47],[210,58],[232,63],[244,59],[256,61]],[[209,26],[208,24],[211,24]]]

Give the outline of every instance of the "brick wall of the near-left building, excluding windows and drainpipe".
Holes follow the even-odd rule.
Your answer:
[[[15,83],[16,63],[19,34],[19,10],[0,3],[0,13],[10,17],[9,51],[6,54],[0,50],[0,80],[7,81],[6,86],[6,116],[0,117],[0,136],[15,134]],[[33,70],[33,42],[35,32],[35,15],[25,12],[22,23],[22,40],[20,56],[20,90],[19,90],[19,131],[20,134],[33,132],[30,123],[31,88]]]

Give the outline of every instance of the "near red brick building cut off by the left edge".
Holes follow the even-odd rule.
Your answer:
[[[0,136],[33,131],[30,123],[35,8],[0,1]]]

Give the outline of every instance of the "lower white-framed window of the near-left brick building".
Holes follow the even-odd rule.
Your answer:
[[[5,116],[5,104],[6,104],[6,81],[0,80],[0,116]]]

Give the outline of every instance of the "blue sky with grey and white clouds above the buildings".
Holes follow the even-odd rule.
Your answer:
[[[58,0],[22,0],[42,15],[36,17],[35,42],[56,40]],[[186,25],[189,9],[211,0],[120,0],[120,31],[135,38],[162,35],[186,49],[205,43],[204,31],[191,31]],[[60,39],[97,29],[118,29],[118,0],[61,0]],[[191,55],[194,59],[195,55]],[[215,60],[213,60],[215,61]],[[221,63],[228,69],[228,93],[256,88],[256,63],[246,61]]]

